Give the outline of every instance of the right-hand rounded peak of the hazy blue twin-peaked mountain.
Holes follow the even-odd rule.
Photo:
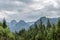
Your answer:
[[[23,28],[28,29],[28,27],[29,27],[29,24],[26,23],[26,22],[23,21],[23,20],[21,20],[21,21],[19,21],[17,24],[15,24],[15,30],[16,30],[16,31],[19,31],[19,30],[21,30],[21,29],[23,29]]]

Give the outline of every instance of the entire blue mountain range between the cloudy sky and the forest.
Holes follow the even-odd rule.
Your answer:
[[[56,24],[58,22],[58,19],[59,18],[47,18],[47,17],[41,17],[40,19],[42,19],[42,22],[43,24],[47,24],[47,19],[50,20],[50,23],[51,24]],[[38,19],[35,23],[37,25],[40,24],[40,19]],[[15,20],[12,20],[10,23],[9,23],[9,27],[10,27],[10,30],[12,32],[19,32],[21,29],[25,28],[26,30],[29,29],[30,26],[33,26],[34,25],[34,22],[25,22],[23,20],[20,20],[19,22],[16,22]]]

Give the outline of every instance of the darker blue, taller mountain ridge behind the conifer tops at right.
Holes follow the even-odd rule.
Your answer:
[[[41,18],[39,18],[35,23],[37,24],[37,26],[39,26],[39,24],[40,24],[40,20],[42,20],[42,22],[43,22],[43,24],[45,24],[45,26],[47,25],[47,20],[50,20],[50,23],[51,24],[56,24],[57,22],[58,22],[58,19],[59,18],[47,18],[47,17],[41,17]],[[34,26],[34,24],[33,25],[31,25],[31,27],[32,26]]]

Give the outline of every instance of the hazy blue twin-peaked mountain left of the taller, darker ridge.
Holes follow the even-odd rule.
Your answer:
[[[23,20],[20,20],[19,22],[16,22],[16,20],[12,20],[9,23],[9,28],[12,32],[19,32],[21,29],[25,28],[26,30],[28,30],[28,28],[30,27],[30,25],[32,25],[32,22],[25,22]]]

